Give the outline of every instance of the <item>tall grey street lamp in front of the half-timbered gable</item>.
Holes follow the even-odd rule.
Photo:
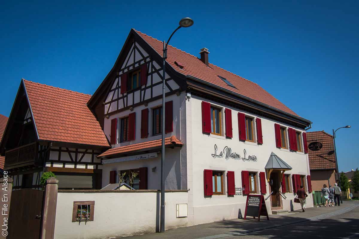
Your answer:
[[[172,32],[172,34],[169,36],[167,43],[163,42],[163,69],[162,69],[162,150],[161,150],[161,206],[160,206],[160,232],[164,232],[164,130],[165,130],[165,104],[164,104],[164,98],[165,98],[165,66],[166,66],[166,58],[167,58],[167,45],[169,40],[171,40],[171,37],[173,34],[180,29],[181,27],[191,27],[193,25],[194,21],[191,18],[182,18],[180,20],[179,26]]]

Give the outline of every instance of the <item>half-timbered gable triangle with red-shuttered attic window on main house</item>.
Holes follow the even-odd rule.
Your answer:
[[[104,101],[104,115],[158,99],[162,95],[162,77],[162,67],[134,41],[110,83],[111,88]],[[179,88],[166,73],[165,93],[174,94]]]

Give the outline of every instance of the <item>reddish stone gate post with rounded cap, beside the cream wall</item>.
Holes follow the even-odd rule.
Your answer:
[[[46,180],[41,239],[53,239],[54,237],[58,188],[57,183],[59,183],[59,180],[54,177]]]

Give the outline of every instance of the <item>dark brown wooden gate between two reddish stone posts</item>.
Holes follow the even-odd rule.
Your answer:
[[[39,239],[44,191],[20,189],[11,192],[7,239]]]

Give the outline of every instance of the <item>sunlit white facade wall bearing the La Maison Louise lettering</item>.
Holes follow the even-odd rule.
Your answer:
[[[210,102],[213,105],[217,105],[223,108],[229,108],[232,110],[232,128],[233,128],[233,138],[225,138],[224,136],[208,135],[202,133],[202,115],[201,115],[201,102],[206,101]],[[239,140],[238,133],[238,112],[244,113],[246,115],[257,117],[257,115],[247,113],[245,111],[239,111],[233,107],[228,107],[226,105],[218,104],[216,102],[202,99],[196,96],[192,96],[190,99],[191,106],[191,121],[187,119],[187,123],[192,123],[191,132],[187,131],[187,136],[191,138],[191,150],[193,160],[191,161],[191,168],[187,170],[188,175],[193,177],[193,183],[188,184],[190,191],[193,193],[193,210],[194,210],[194,224],[209,223],[217,220],[224,219],[233,219],[237,218],[239,214],[239,209],[244,216],[245,211],[245,202],[246,195],[234,195],[231,197],[227,196],[227,177],[224,178],[224,190],[225,195],[213,195],[211,197],[204,196],[204,183],[203,183],[203,172],[204,169],[218,170],[218,171],[234,171],[235,175],[235,184],[236,187],[242,187],[241,180],[241,171],[253,171],[253,172],[265,172],[265,165],[269,159],[271,152],[277,154],[278,157],[283,159],[288,163],[293,169],[286,171],[290,174],[300,174],[300,175],[309,175],[309,163],[307,154],[301,152],[290,152],[286,149],[276,148],[275,145],[275,133],[274,133],[274,124],[278,123],[271,119],[267,119],[262,116],[258,116],[262,121],[262,134],[263,134],[263,144],[243,142]],[[188,111],[188,110],[187,110]],[[187,115],[188,117],[188,115]],[[286,125],[278,123],[280,125],[294,128],[291,125]],[[255,129],[255,124],[253,124]],[[302,129],[295,128],[297,131],[303,132]],[[225,132],[225,126],[224,126]],[[254,133],[256,135],[256,131]],[[218,146],[218,153],[223,150],[225,146],[232,148],[232,152],[237,152],[241,154],[241,157],[244,156],[243,150],[246,149],[247,155],[255,155],[257,157],[257,162],[252,161],[243,161],[236,159],[225,159],[223,158],[214,158],[211,154],[214,154],[214,145]],[[188,153],[188,152],[187,152]],[[188,158],[189,156],[187,156]],[[307,182],[306,182],[307,183]],[[257,181],[257,185],[259,181]],[[259,187],[259,186],[258,186]],[[264,197],[268,196],[270,193],[269,183],[266,182],[267,193]],[[309,194],[309,193],[308,193]],[[282,200],[283,209],[291,209],[291,205],[295,195],[294,193],[285,193],[287,197],[286,200]],[[311,207],[312,196],[309,194],[307,198],[307,207]],[[266,200],[266,206],[269,214],[271,214],[271,204],[270,198]],[[294,210],[300,209],[299,204],[294,204]]]

